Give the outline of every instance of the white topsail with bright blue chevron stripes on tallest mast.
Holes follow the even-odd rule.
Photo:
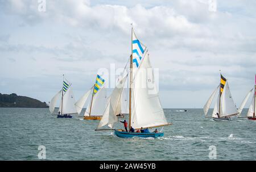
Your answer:
[[[144,46],[141,41],[138,40],[133,30],[133,64],[136,68],[138,68],[139,64],[141,64],[145,50],[146,46]]]

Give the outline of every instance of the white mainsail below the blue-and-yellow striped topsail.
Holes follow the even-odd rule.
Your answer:
[[[102,87],[96,94],[93,96],[93,102],[92,102],[92,108],[90,110],[90,103],[89,107],[86,108],[84,116],[102,116],[102,114],[105,111],[106,104],[107,104],[107,95],[106,95],[106,89],[105,87]]]

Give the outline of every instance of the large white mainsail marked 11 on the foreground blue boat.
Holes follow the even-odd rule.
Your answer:
[[[149,85],[153,87],[149,88]],[[133,81],[131,114],[131,126],[133,128],[168,125],[159,100],[159,95],[158,93],[153,94],[154,91],[152,90],[156,90],[156,86],[147,53],[144,56]]]

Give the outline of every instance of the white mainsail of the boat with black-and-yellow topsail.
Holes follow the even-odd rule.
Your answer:
[[[228,81],[226,81],[226,85],[224,86],[224,90],[221,94],[221,112],[220,117],[225,117],[229,115],[238,114],[237,108],[234,104],[234,100],[230,93]]]

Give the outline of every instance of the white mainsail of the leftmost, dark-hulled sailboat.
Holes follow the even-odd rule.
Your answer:
[[[72,91],[72,87],[69,86],[68,90],[65,92],[65,94],[63,95],[63,108],[61,109],[61,101],[60,101],[60,108],[59,108],[59,112],[62,113],[61,114],[76,114],[77,110],[75,107],[75,97]]]

